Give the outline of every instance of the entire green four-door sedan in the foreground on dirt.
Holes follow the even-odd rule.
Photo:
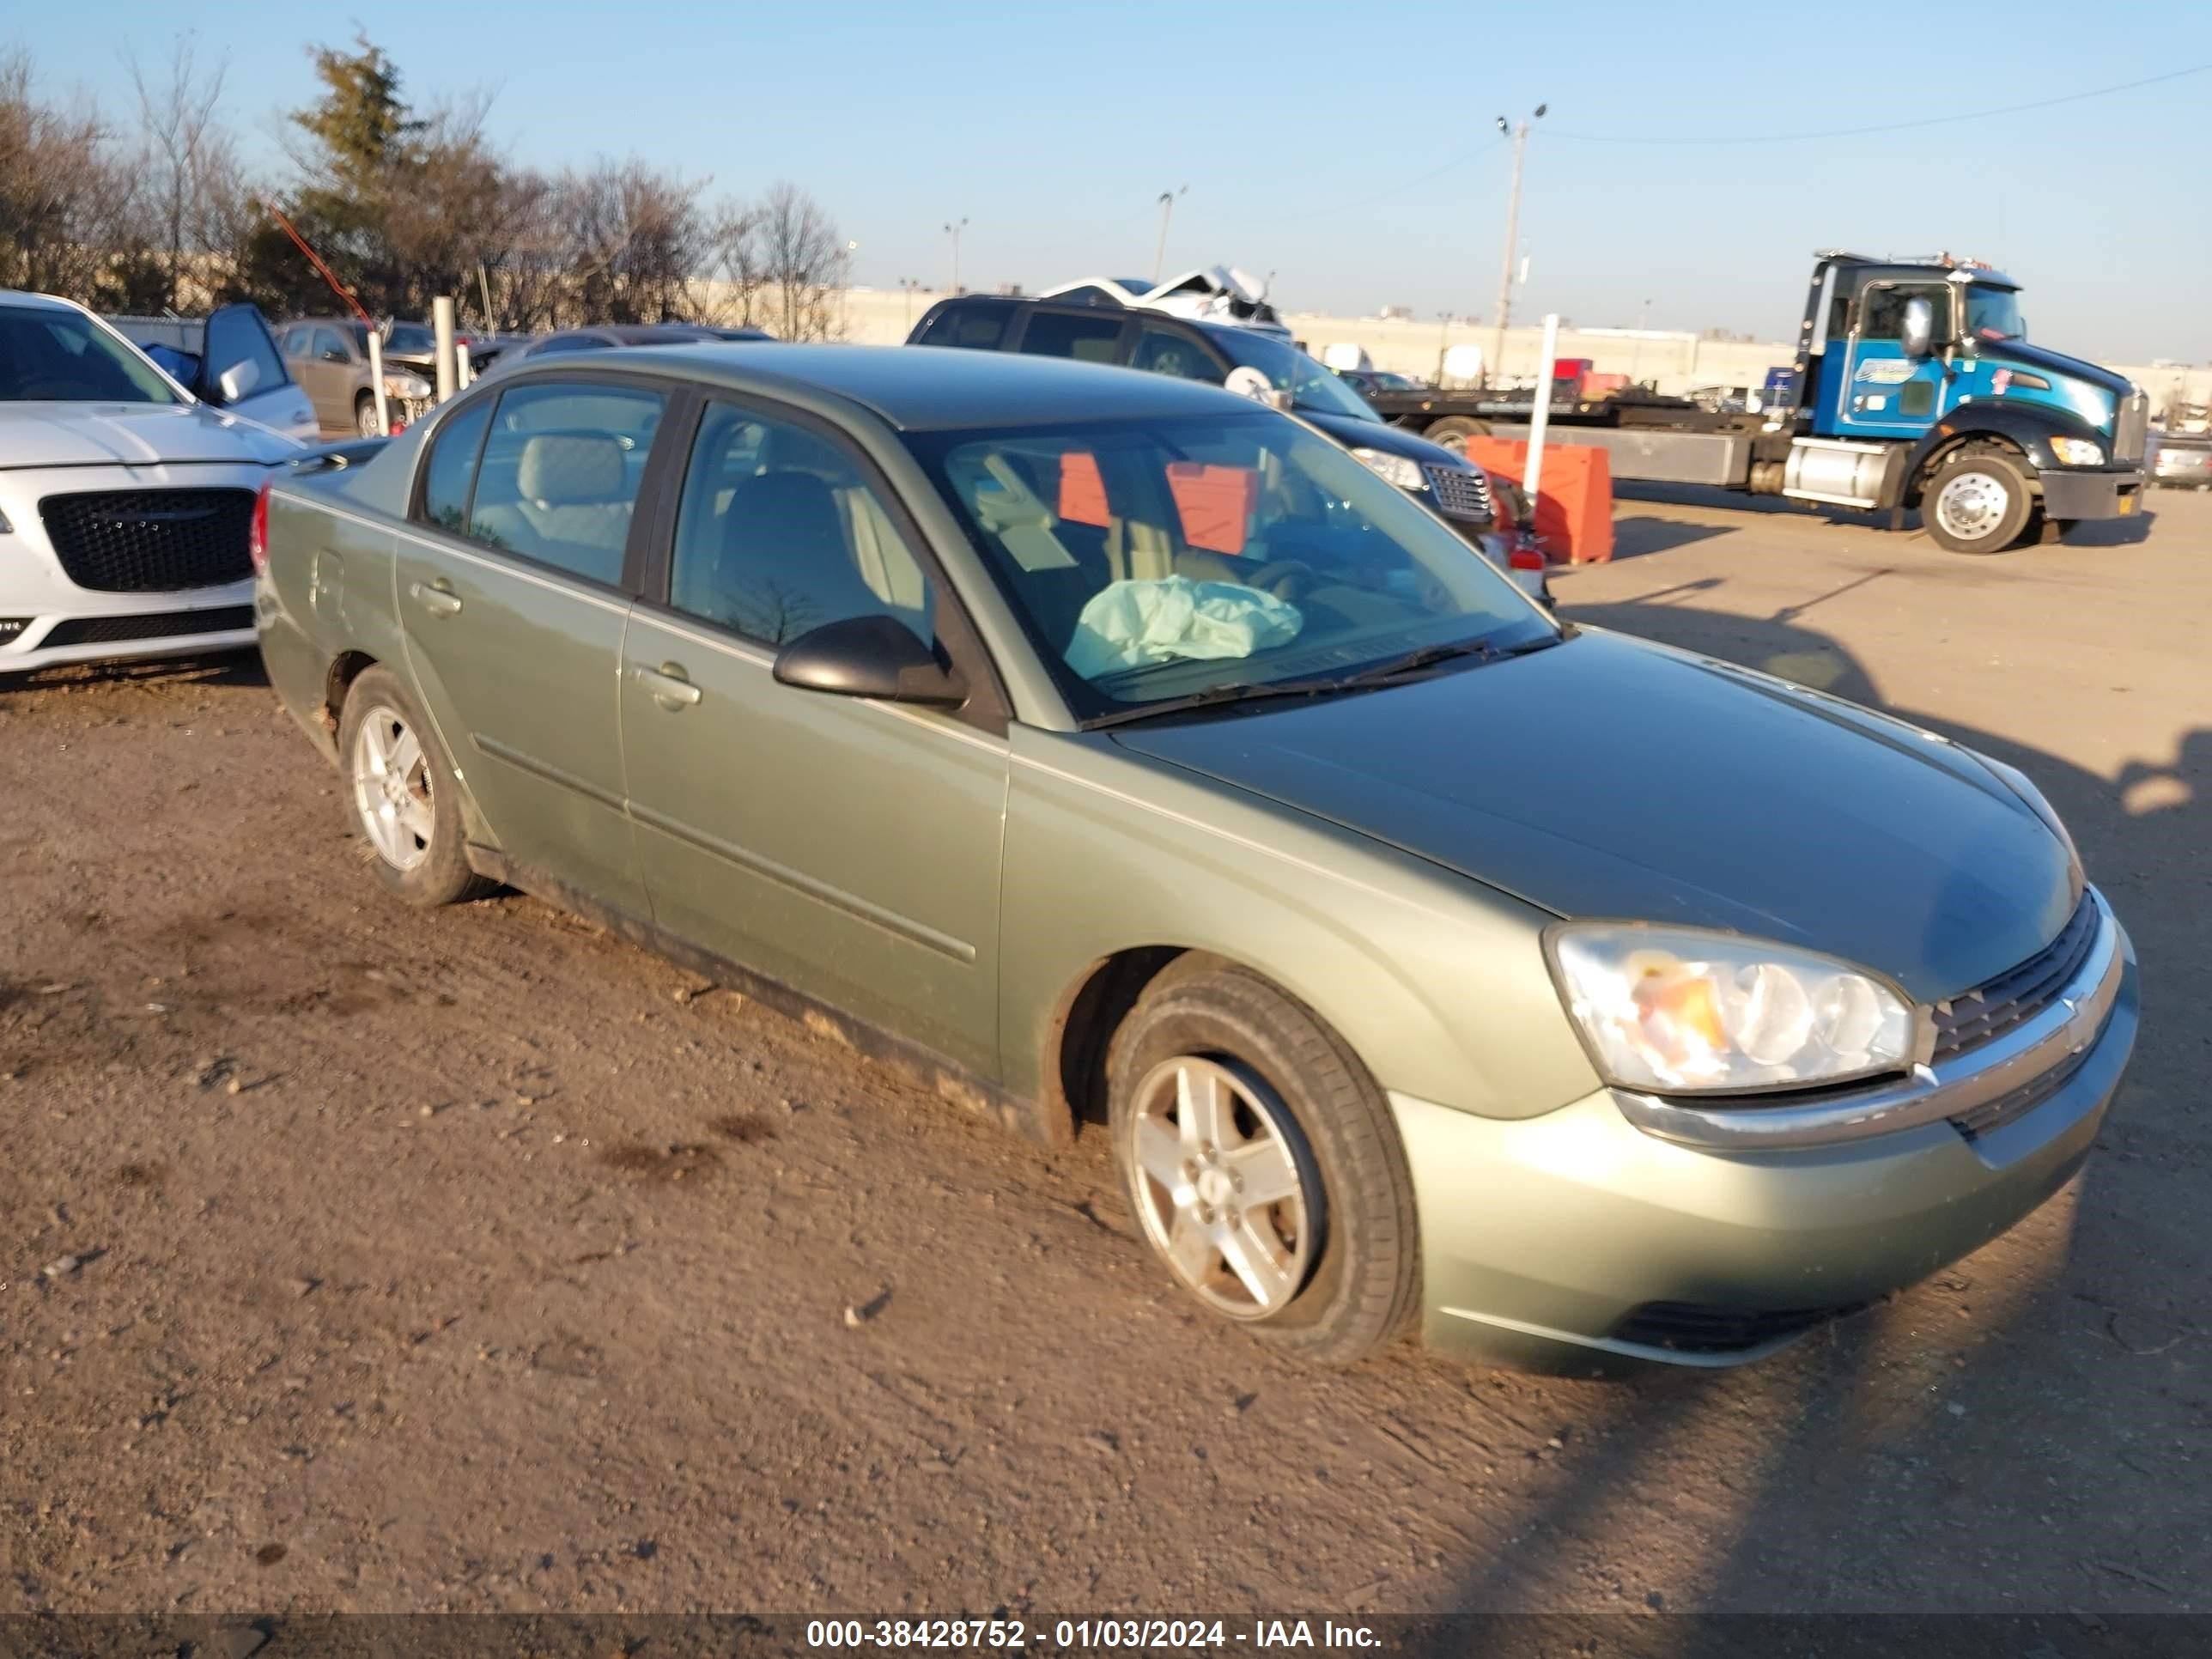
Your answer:
[[[1555,622],[1272,409],[531,363],[261,498],[394,898],[522,887],[1060,1144],[1214,1314],[1721,1365],[2081,1166],[2137,971],[2013,768]]]

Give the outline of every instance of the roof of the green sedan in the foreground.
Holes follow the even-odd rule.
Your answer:
[[[1201,380],[949,345],[714,343],[668,352],[644,347],[624,352],[619,367],[768,396],[801,387],[827,392],[872,409],[900,431],[1252,411],[1248,398]],[[544,374],[555,372],[546,363]]]

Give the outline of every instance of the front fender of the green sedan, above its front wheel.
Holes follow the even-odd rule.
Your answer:
[[[1071,991],[1141,947],[1199,949],[1327,1020],[1383,1088],[1533,1117],[1597,1086],[1544,964],[1553,920],[1340,825],[1097,732],[1011,730],[1002,1082],[1048,1099]]]

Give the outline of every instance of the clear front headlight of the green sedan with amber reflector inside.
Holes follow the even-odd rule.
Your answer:
[[[1632,922],[1568,922],[1546,949],[1590,1060],[1624,1088],[1798,1088],[1913,1057],[1911,1002],[1829,956]]]

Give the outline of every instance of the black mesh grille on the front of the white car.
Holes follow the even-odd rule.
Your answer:
[[[95,593],[184,593],[252,575],[250,489],[117,489],[38,504],[62,573]]]

